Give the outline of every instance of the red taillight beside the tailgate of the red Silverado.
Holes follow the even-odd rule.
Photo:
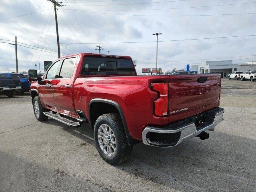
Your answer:
[[[154,100],[153,110],[156,116],[168,115],[168,83],[151,83],[152,91],[158,93],[158,98]]]

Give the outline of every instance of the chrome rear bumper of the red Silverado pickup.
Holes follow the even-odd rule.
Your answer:
[[[146,145],[173,147],[198,136],[201,132],[214,130],[214,126],[223,121],[223,108],[215,108],[188,119],[170,124],[164,128],[147,126],[142,132],[142,140]],[[197,118],[204,117],[204,122],[195,124]]]

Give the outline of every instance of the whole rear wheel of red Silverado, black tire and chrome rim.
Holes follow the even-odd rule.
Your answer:
[[[100,156],[109,164],[124,162],[132,154],[133,146],[128,145],[119,114],[98,117],[94,125],[94,140]]]

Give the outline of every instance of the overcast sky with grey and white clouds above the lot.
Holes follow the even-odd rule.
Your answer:
[[[65,54],[98,53],[94,49],[100,44],[104,48],[102,54],[110,51],[110,54],[128,55],[137,60],[136,70],[140,73],[141,68],[156,66],[156,42],[103,43],[155,41],[156,36],[152,35],[155,32],[162,33],[158,36],[160,41],[256,34],[256,14],[244,14],[256,13],[256,3],[248,4],[252,0],[170,1],[175,0],[63,0],[65,6],[57,11],[59,35],[60,43],[69,50],[60,45],[60,51]],[[236,5],[213,6],[223,4]],[[207,7],[191,8],[198,6]],[[20,16],[22,14],[28,15]],[[198,16],[211,14],[215,16]],[[0,38],[4,40],[0,41],[8,42],[5,40],[14,40],[15,36],[18,42],[57,51],[52,3],[47,0],[1,0]],[[256,36],[158,42],[158,67],[163,71],[174,67],[183,69],[185,64],[205,60],[243,63],[256,60],[253,55],[256,55]],[[35,68],[39,62],[43,69],[44,60],[57,58],[58,54],[18,46],[19,71]],[[15,47],[0,43],[0,72],[7,72],[7,68],[15,71]]]

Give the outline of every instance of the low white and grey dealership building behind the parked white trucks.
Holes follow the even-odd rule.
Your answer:
[[[256,70],[256,62],[234,64],[232,60],[206,61],[197,65],[197,73],[220,73],[221,77],[228,77],[233,71],[246,72]]]

